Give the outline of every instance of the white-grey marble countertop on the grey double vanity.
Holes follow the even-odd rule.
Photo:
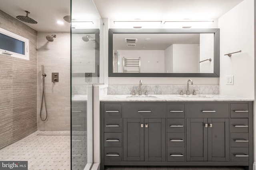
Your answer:
[[[198,101],[254,101],[248,98],[226,95],[106,95],[100,98],[101,102],[198,102]]]

